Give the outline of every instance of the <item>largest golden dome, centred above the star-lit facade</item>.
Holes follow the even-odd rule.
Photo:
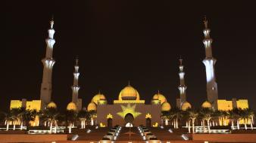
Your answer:
[[[119,100],[139,100],[139,93],[132,86],[128,85],[119,93]]]

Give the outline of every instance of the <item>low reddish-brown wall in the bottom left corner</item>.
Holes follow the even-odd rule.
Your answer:
[[[1,142],[47,142],[47,141],[67,141],[67,135],[17,135],[0,134]]]

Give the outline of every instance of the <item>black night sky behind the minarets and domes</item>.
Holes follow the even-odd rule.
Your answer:
[[[56,31],[52,100],[60,110],[71,101],[76,55],[83,106],[98,90],[112,104],[128,81],[147,104],[160,90],[176,106],[182,56],[187,100],[199,107],[207,99],[202,63],[204,15],[214,40],[219,99],[248,99],[256,109],[256,10],[252,3],[11,1],[4,7],[0,110],[7,111],[11,99],[39,99],[41,59],[52,14]]]

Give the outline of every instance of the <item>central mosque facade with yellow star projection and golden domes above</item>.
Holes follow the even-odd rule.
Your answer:
[[[161,111],[170,111],[170,104],[161,93],[155,94],[152,104],[145,105],[145,100],[139,98],[139,92],[130,84],[120,91],[117,100],[113,105],[108,105],[105,96],[98,93],[89,103],[88,111],[96,111],[96,122],[101,126],[126,126],[132,123],[133,126],[141,124],[153,126],[161,124]],[[154,102],[153,102],[154,101]],[[158,101],[158,102],[157,102]]]

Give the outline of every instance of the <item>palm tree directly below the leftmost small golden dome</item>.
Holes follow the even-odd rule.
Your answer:
[[[55,123],[55,133],[57,132],[57,122],[58,122],[58,116],[59,112],[57,111],[57,108],[46,108],[44,111],[42,111],[42,119],[50,123],[50,133],[52,133],[52,125]]]

